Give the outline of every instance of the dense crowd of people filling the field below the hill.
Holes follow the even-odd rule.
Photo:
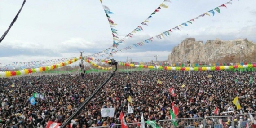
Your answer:
[[[22,76],[0,79],[0,128],[46,128],[49,121],[63,123],[102,84],[110,72],[81,75]],[[144,120],[171,119],[172,105],[178,107],[176,119],[204,118],[206,116],[231,115],[223,120],[230,127],[235,114],[253,113],[256,110],[256,88],[250,77],[255,72],[234,71],[133,71],[116,72],[115,76],[96,94],[66,128],[88,128],[120,124],[119,115],[124,113],[126,123]],[[161,82],[157,82],[161,81]],[[182,86],[183,85],[183,86]],[[169,92],[174,88],[175,96]],[[40,93],[44,100],[36,98],[32,105],[29,98]],[[129,105],[133,109],[128,114]],[[232,102],[238,96],[241,109]],[[71,105],[71,108],[68,106]],[[115,108],[114,117],[102,117],[102,108]],[[214,112],[218,109],[218,113]],[[227,112],[231,111],[231,112]],[[227,113],[223,113],[227,112]],[[240,117],[249,120],[249,116]],[[239,121],[239,120],[238,120]],[[207,128],[216,120],[209,118]],[[177,128],[191,125],[202,128],[200,119],[188,124],[177,120]],[[171,128],[170,122],[159,124]],[[128,128],[139,128],[140,124],[128,124]],[[150,127],[150,125],[146,126]]]

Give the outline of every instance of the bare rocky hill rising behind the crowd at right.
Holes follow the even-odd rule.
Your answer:
[[[242,49],[241,49],[242,48]],[[256,43],[247,39],[196,41],[187,38],[172,49],[168,62],[227,63],[256,62]]]

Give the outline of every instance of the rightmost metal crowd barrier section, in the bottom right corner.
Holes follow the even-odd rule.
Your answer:
[[[245,114],[234,115],[233,117],[234,126],[236,126],[236,128],[247,128],[247,124],[249,124],[249,128],[255,128],[254,127],[255,118],[256,118],[256,113],[245,113]]]

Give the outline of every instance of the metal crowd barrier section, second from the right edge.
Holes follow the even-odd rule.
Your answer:
[[[204,118],[204,128],[234,128],[232,116],[207,116]]]

